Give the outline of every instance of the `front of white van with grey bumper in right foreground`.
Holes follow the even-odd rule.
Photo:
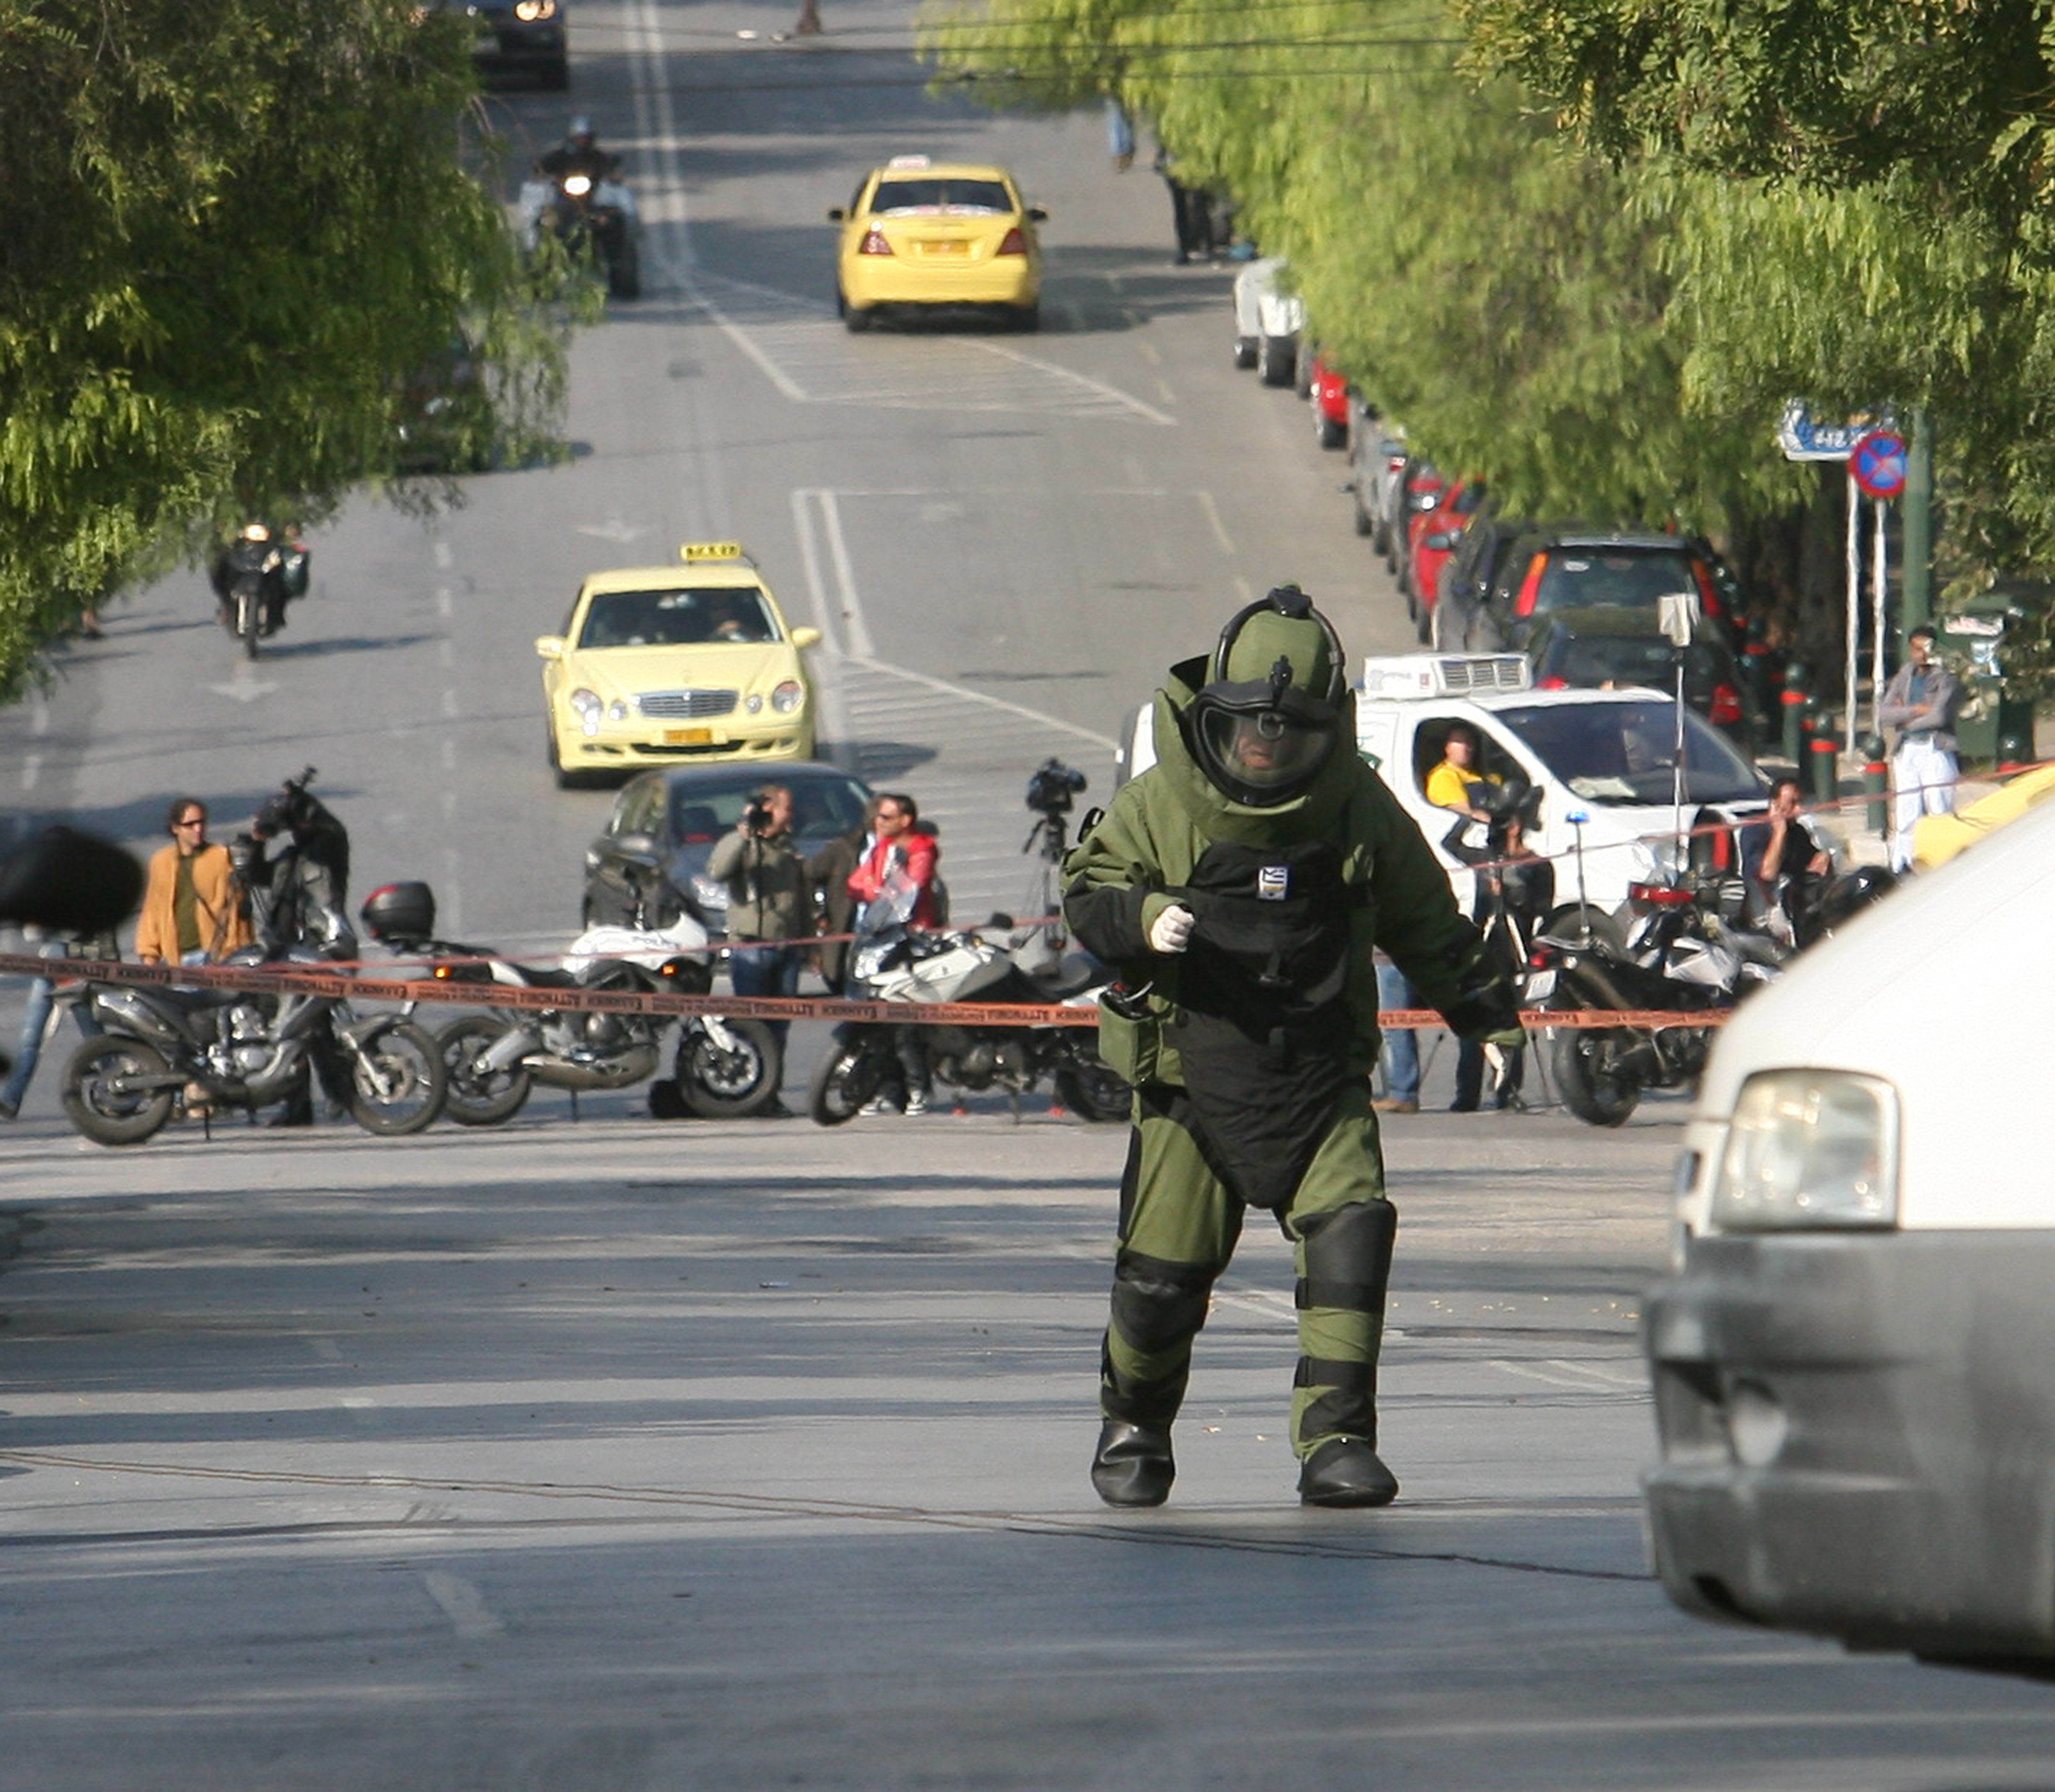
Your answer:
[[[2055,1673],[2055,804],[1796,960],[1714,1048],[1646,1317],[1689,1611]]]

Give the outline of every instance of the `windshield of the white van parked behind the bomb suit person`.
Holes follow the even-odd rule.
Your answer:
[[[1564,785],[1593,804],[1667,804],[1677,758],[1677,705],[1667,697],[1556,703],[1492,711]],[[1726,736],[1683,711],[1683,797],[1734,804],[1763,795],[1755,771]]]

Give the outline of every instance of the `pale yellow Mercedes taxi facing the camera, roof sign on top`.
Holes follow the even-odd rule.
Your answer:
[[[678,565],[592,573],[561,635],[540,635],[549,762],[565,789],[649,764],[814,756],[820,629],[785,623],[732,540],[688,540]]]

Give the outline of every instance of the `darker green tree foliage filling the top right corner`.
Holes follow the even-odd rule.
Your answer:
[[[1681,222],[1687,399],[1934,419],[1963,596],[2055,565],[2055,4],[1457,0],[1467,66]],[[2055,688],[2055,617],[2028,688]],[[2022,660],[2014,660],[2022,664]]]

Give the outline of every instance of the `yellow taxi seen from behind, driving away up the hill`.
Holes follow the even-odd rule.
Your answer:
[[[857,183],[847,212],[828,214],[843,226],[836,310],[849,329],[914,306],[991,310],[1034,329],[1046,216],[1005,169],[894,156]]]

